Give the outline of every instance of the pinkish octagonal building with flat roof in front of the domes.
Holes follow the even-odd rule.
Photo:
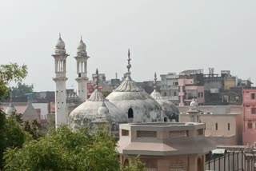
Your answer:
[[[122,165],[140,156],[150,171],[205,170],[207,141],[202,123],[137,123],[119,126],[118,153]]]

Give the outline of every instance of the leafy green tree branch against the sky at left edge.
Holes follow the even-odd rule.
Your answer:
[[[27,68],[25,65],[18,66],[16,63],[0,66],[0,97],[8,97],[10,82],[21,82],[26,77]]]

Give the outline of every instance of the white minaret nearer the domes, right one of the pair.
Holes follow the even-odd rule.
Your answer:
[[[90,58],[86,53],[86,44],[81,40],[78,44],[77,56],[74,57],[77,61],[77,74],[78,77],[75,79],[78,82],[78,97],[82,102],[87,99],[87,59]]]

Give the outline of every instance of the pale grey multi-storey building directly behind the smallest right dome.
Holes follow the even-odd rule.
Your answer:
[[[161,74],[161,87],[160,93],[162,97],[166,98],[174,103],[174,105],[179,105],[178,98],[178,74],[168,73]]]

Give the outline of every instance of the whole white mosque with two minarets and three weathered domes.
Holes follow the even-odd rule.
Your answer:
[[[66,96],[66,54],[65,42],[61,36],[55,46],[55,125],[70,125],[78,128],[82,125],[91,125],[95,121],[106,121],[111,125],[112,131],[118,132],[121,123],[178,121],[178,108],[170,101],[165,100],[156,89],[157,76],[154,75],[154,92],[146,93],[131,78],[130,50],[128,50],[128,65],[126,79],[113,90],[106,98],[98,89],[98,70],[96,70],[96,81],[94,92],[87,98],[86,82],[87,60],[90,58],[86,52],[86,44],[82,38],[78,44],[77,56],[77,101],[74,109]],[[74,104],[72,105],[74,107]]]

